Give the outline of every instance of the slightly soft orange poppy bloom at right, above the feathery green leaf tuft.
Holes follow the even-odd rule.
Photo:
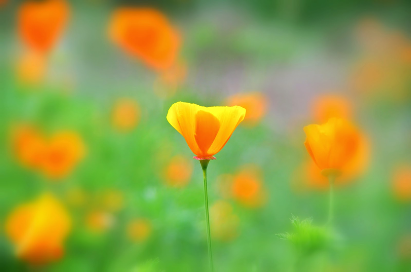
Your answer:
[[[342,172],[356,159],[361,135],[347,120],[331,118],[323,125],[308,125],[304,131],[304,145],[324,174],[330,169]]]

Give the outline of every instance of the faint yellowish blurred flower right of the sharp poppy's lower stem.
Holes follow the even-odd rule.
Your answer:
[[[214,239],[231,241],[238,236],[239,218],[226,201],[217,201],[210,208],[211,232]]]

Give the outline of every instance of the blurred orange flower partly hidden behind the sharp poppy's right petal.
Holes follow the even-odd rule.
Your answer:
[[[261,92],[238,93],[227,99],[228,106],[240,106],[246,109],[247,115],[243,124],[257,125],[267,113],[268,99]]]

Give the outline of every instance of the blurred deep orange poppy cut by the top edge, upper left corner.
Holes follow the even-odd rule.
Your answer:
[[[64,0],[25,2],[17,14],[18,34],[29,48],[48,52],[60,37],[68,13],[69,7]]]

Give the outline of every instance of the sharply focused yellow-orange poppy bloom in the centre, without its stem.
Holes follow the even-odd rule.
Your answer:
[[[235,128],[244,120],[246,110],[233,107],[202,107],[177,102],[173,104],[167,121],[183,135],[197,160],[215,159],[230,139]]]

